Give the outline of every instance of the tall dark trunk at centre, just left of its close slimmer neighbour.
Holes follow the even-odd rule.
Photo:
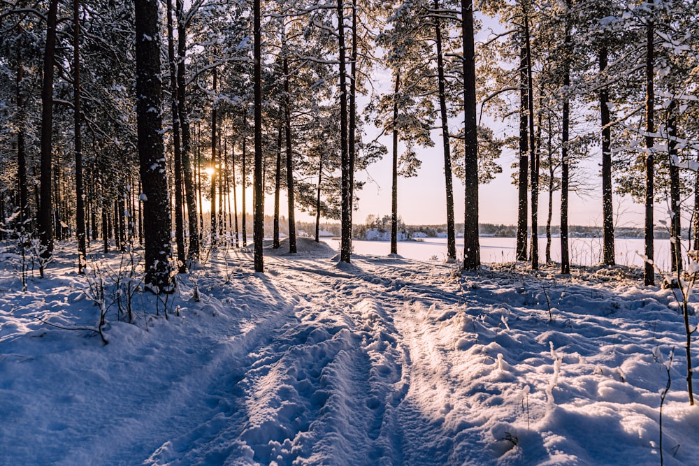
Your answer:
[[[345,63],[345,11],[338,0],[338,49],[340,60],[340,166],[342,183],[342,216],[340,261],[349,263],[352,257],[352,165],[347,147],[347,66]]]

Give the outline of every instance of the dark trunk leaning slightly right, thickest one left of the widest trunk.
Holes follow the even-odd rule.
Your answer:
[[[43,259],[50,259],[53,254],[53,226],[51,202],[52,174],[52,130],[53,130],[53,76],[56,52],[56,22],[58,0],[49,3],[46,16],[46,45],[43,57],[43,87],[41,89],[41,180],[40,204],[38,213],[39,240]],[[43,277],[43,263],[39,265]]]

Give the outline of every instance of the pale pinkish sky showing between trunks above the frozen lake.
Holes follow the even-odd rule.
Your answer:
[[[435,133],[437,133],[435,131]],[[498,136],[496,134],[496,136]],[[503,136],[500,134],[499,136]],[[435,134],[433,139],[440,138]],[[383,137],[382,143],[391,148],[389,137]],[[402,152],[402,149],[401,149]],[[422,161],[417,177],[398,179],[398,215],[405,224],[445,224],[447,219],[444,161],[440,147],[417,147],[417,153]],[[602,201],[598,195],[601,191],[599,177],[598,154],[592,154],[586,161],[586,183],[592,188],[591,195],[581,197],[570,193],[569,221],[570,225],[601,226]],[[515,156],[505,151],[498,163],[503,167],[503,173],[496,175],[495,180],[482,184],[479,190],[479,219],[487,224],[517,224],[517,186],[512,184],[512,168]],[[370,214],[391,214],[391,156],[369,166],[366,171],[356,173],[358,180],[366,181],[363,189],[358,192],[359,209],[354,212],[354,223],[361,224]],[[456,221],[463,221],[463,184],[454,177],[454,213]],[[271,198],[270,198],[271,203]],[[539,224],[543,225],[547,216],[548,193],[543,192],[539,198]],[[272,205],[268,207],[271,212]],[[628,198],[614,196],[614,210],[617,212],[617,225],[641,226],[643,222],[643,206],[635,204]],[[656,208],[656,218],[665,218],[666,209]],[[300,221],[315,221],[315,217],[300,212],[296,215]],[[560,224],[560,192],[554,193],[554,215],[552,224]]]

